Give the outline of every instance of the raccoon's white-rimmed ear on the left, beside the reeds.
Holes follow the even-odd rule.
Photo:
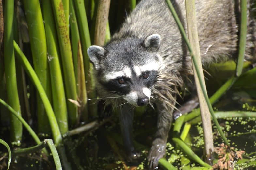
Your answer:
[[[105,54],[104,48],[97,45],[92,45],[87,49],[87,54],[89,55],[91,62],[94,64],[95,69],[98,69],[100,60]]]

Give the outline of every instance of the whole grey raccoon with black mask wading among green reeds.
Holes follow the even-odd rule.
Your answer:
[[[187,30],[184,0],[171,2]],[[255,60],[250,4],[245,58]],[[203,66],[235,59],[239,0],[196,1],[196,16]],[[100,97],[119,111],[123,143],[131,157],[137,157],[132,140],[133,107],[155,104],[157,130],[148,154],[150,167],[155,168],[165,155],[179,87],[193,74],[189,51],[166,1],[141,0],[104,47],[90,46],[87,52]]]

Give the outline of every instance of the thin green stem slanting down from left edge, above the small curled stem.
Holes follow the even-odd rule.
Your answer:
[[[34,139],[34,141],[37,144],[40,144],[40,139],[37,136],[37,134],[33,131],[33,129],[27,124],[27,122],[11,107],[9,106],[4,100],[0,99],[0,103],[2,105],[4,105],[11,113],[13,116],[15,116],[22,124],[23,126],[27,129],[27,131],[29,132],[29,134],[32,136],[32,138]],[[46,149],[43,150],[44,153],[46,153],[48,155],[48,152]]]

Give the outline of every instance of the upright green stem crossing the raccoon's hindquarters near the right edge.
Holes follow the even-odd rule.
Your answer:
[[[238,60],[236,65],[236,76],[239,77],[242,74],[243,63],[245,58],[245,45],[247,35],[247,0],[241,0],[241,29],[239,37],[239,51]]]

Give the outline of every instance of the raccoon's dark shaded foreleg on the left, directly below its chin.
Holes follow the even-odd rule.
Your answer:
[[[133,109],[128,108],[127,104],[119,107],[119,121],[123,138],[123,146],[129,158],[136,159],[139,155],[133,145]]]

